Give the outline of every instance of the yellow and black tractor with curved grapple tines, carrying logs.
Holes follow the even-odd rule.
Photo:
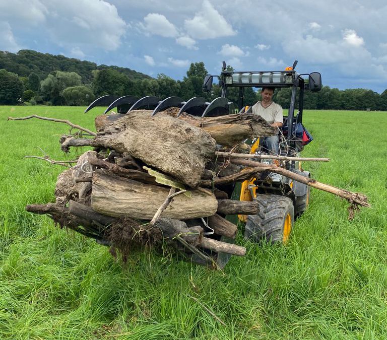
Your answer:
[[[203,92],[212,90],[213,79],[219,79],[221,96],[208,102],[204,97],[193,97],[183,100],[180,97],[168,97],[164,100],[156,96],[146,96],[138,98],[135,96],[113,96],[106,95],[96,99],[89,105],[85,112],[95,106],[108,106],[104,113],[113,108],[117,108],[117,113],[108,115],[107,120],[115,120],[124,114],[130,114],[137,109],[149,109],[152,116],[170,107],[177,107],[179,111],[177,117],[185,112],[195,116],[218,116],[230,113],[252,112],[251,107],[244,105],[244,89],[251,88],[291,88],[291,99],[288,115],[284,117],[284,124],[280,128],[280,156],[298,157],[303,149],[303,144],[307,143],[303,139],[304,135],[311,140],[302,125],[303,96],[304,91],[317,92],[321,89],[321,75],[317,72],[310,74],[298,74],[295,71],[297,60],[293,66],[287,67],[284,71],[229,71],[223,61],[222,72],[219,76],[207,75],[204,79]],[[307,76],[307,82],[304,78]],[[227,92],[230,88],[238,88],[239,96],[237,103],[227,99]],[[297,100],[298,96],[298,100]],[[298,110],[295,112],[296,102]],[[236,108],[237,107],[237,108]],[[246,140],[250,145],[250,153],[256,154],[257,158],[265,154],[260,138]],[[308,171],[301,168],[301,162],[294,160],[267,160],[263,163],[272,163],[286,170],[290,170],[305,177],[310,177]],[[296,182],[276,173],[263,172],[256,178],[246,180],[241,185],[229,186],[225,188],[230,198],[240,200],[255,200],[259,203],[259,213],[249,216],[238,216],[240,221],[245,222],[244,236],[255,242],[266,239],[268,242],[286,242],[293,228],[294,219],[300,216],[308,206],[310,187]],[[237,223],[234,217],[228,217],[233,223]],[[222,241],[233,243],[233,239],[222,236]],[[229,255],[219,253],[217,264],[224,267],[229,259]]]

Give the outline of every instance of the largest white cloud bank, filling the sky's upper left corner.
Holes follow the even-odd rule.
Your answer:
[[[3,0],[1,19],[8,21],[14,32],[35,32],[34,39],[69,50],[86,46],[115,50],[126,30],[116,7],[103,0]]]

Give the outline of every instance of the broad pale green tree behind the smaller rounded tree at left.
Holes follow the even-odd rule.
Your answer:
[[[63,105],[62,92],[67,87],[81,86],[81,76],[75,72],[55,71],[40,82],[40,94],[44,100],[53,105]]]

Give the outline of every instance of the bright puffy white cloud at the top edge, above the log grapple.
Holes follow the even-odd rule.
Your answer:
[[[195,39],[212,39],[236,34],[232,26],[208,0],[203,1],[202,10],[197,12],[195,17],[184,21],[184,27]]]

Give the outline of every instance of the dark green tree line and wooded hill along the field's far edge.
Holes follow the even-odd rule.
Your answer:
[[[50,71],[51,67],[51,71]],[[191,63],[186,76],[174,80],[165,74],[151,78],[130,69],[96,65],[64,56],[21,50],[17,54],[0,51],[0,104],[89,105],[95,98],[107,94],[138,97],[157,96],[165,99],[178,96],[183,100],[201,96],[211,101],[221,95],[214,84],[210,93],[202,92],[207,70],[204,62]],[[228,66],[232,70],[231,66]],[[238,90],[229,89],[227,98],[238,100]],[[290,103],[290,88],[277,89],[274,101],[283,108]],[[259,91],[244,90],[244,104],[260,100]],[[378,94],[368,89],[331,89],[304,93],[305,109],[383,110],[387,111],[387,90]]]

